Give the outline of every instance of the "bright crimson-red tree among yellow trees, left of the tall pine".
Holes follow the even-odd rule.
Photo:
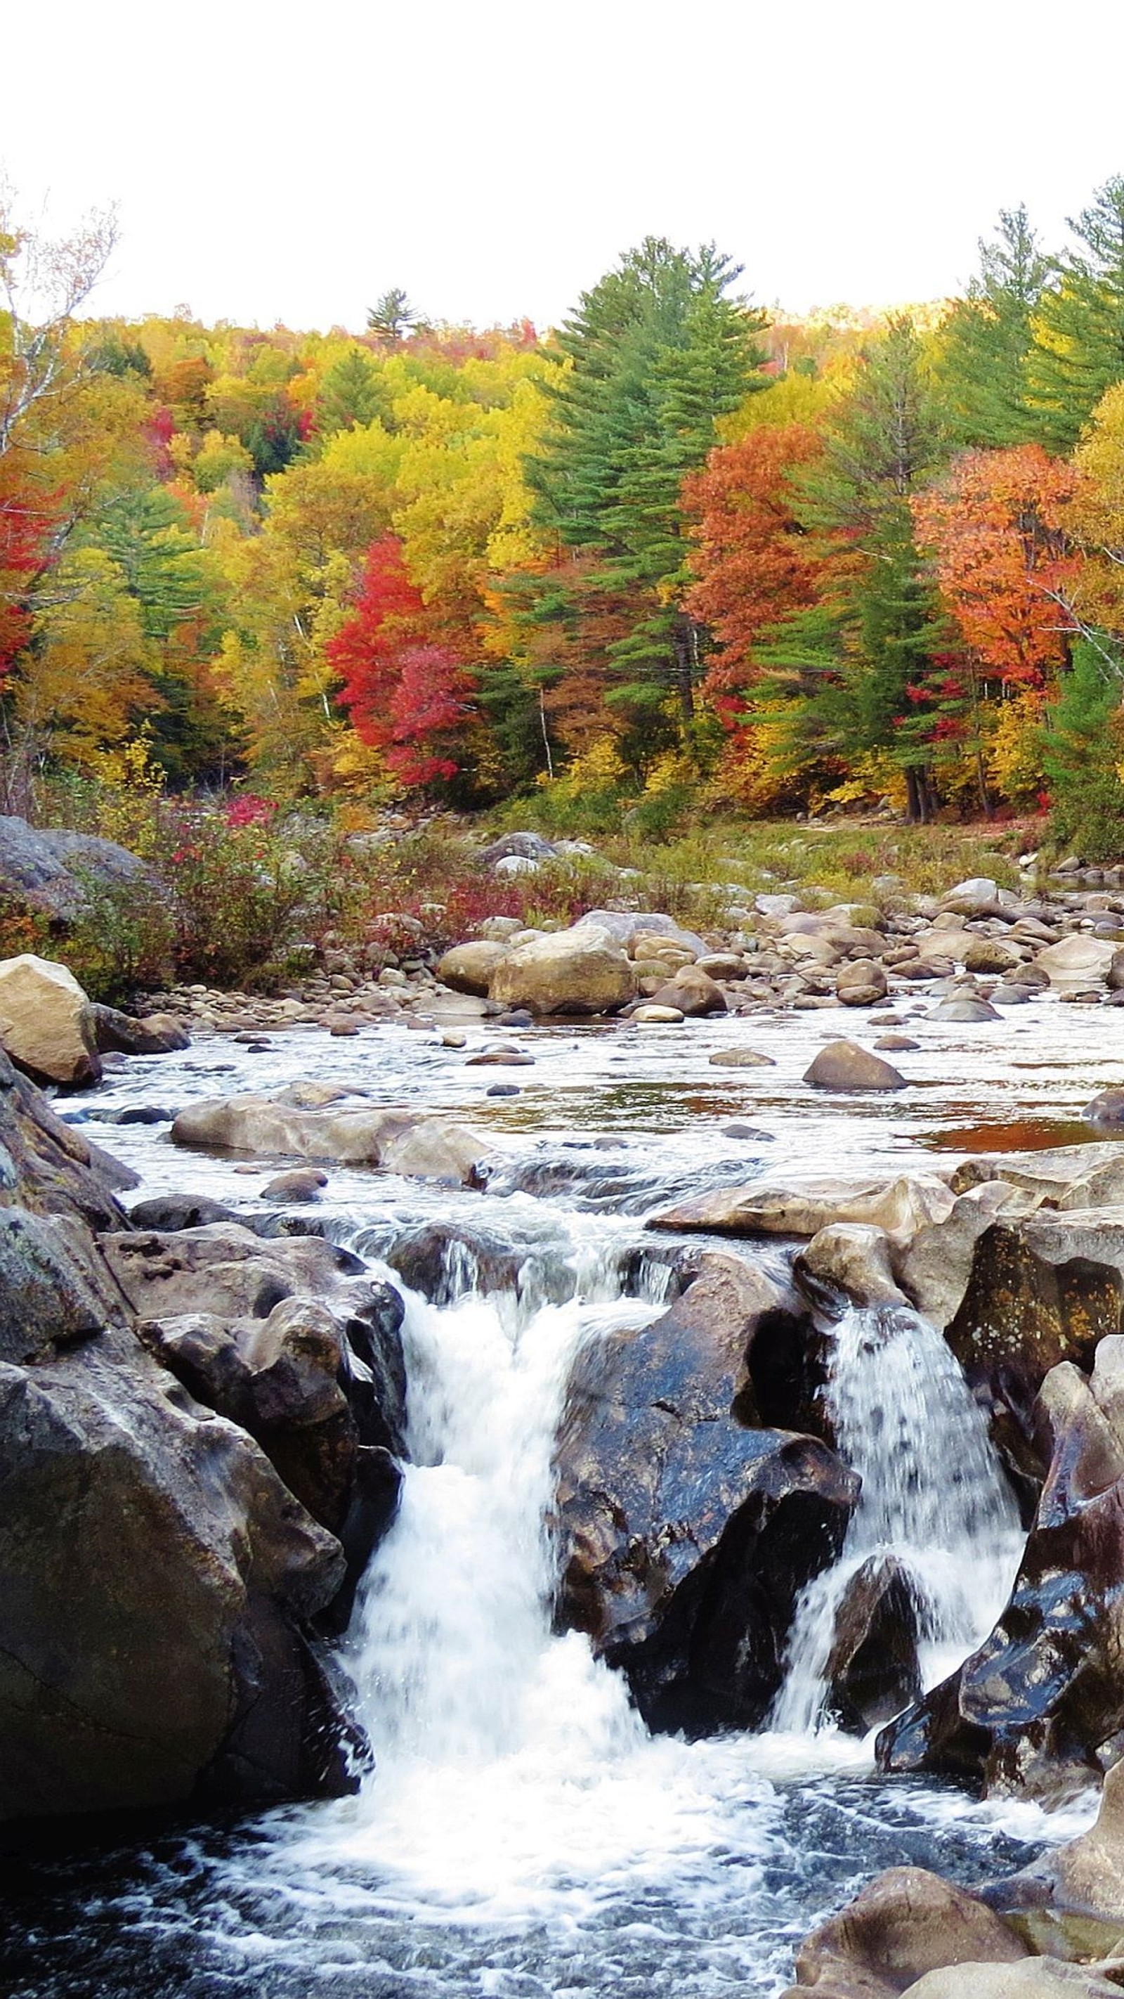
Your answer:
[[[367,550],[353,610],[325,654],[355,734],[401,786],[461,774],[473,716],[465,648],[411,584],[397,536],[383,534]]]

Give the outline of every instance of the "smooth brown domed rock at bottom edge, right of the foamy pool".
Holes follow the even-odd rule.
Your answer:
[[[1014,1965],[1026,1945],[982,1901],[924,1867],[890,1867],[805,1937],[793,1993],[894,1999],[928,1971]]]

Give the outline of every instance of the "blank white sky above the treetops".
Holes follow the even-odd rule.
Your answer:
[[[1124,0],[54,0],[4,72],[20,216],[120,206],[100,312],[549,326],[645,234],[918,302],[1124,172]]]

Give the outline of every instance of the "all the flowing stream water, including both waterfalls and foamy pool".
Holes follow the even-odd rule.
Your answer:
[[[68,1113],[144,1175],[144,1193],[260,1207],[268,1165],[176,1151],[168,1125],[106,1113],[309,1075],[375,1101],[487,1119],[499,1165],[461,1191],[333,1171],[329,1233],[373,1269],[419,1227],[449,1235],[441,1303],[405,1291],[409,1453],[399,1515],[359,1591],[343,1657],[375,1747],[355,1797],[252,1823],[120,1829],[36,1853],[8,1879],[0,1941],[16,1999],[553,1999],[771,1995],[793,1947],[880,1867],[956,1879],[1024,1863],[1088,1813],[974,1805],[874,1777],[841,1733],[825,1667],[850,1577],[896,1557],[918,1605],[924,1683],[986,1633],[1018,1561],[1014,1501],[944,1341],[910,1311],[850,1311],[833,1335],[829,1415],[862,1499],[839,1563],[803,1593],[771,1727],[649,1737],[623,1679],[551,1629],[551,1457],[585,1341],[661,1309],[675,1239],[649,1213],[761,1173],[924,1167],[940,1133],[1030,1105],[1048,1137],[1114,1069],[1116,1017],[1024,1009],[950,1047],[922,1037],[918,1085],[892,1103],[801,1097],[815,1015],[637,1029],[539,1029],[519,1097],[419,1033],[278,1037],[254,1055],[206,1041],[130,1061]],[[912,1025],[912,1023],[910,1023]],[[675,1039],[679,1035],[679,1039]],[[469,1051],[483,1039],[473,1029]],[[767,1047],[731,1081],[707,1057]],[[952,1059],[954,1055],[954,1059]],[[954,1075],[956,1083],[934,1077]],[[531,1077],[531,1081],[527,1081]],[[757,1139],[725,1135],[753,1119]],[[739,1127],[745,1131],[745,1125]],[[481,1281],[479,1243],[517,1281]],[[747,1255],[775,1249],[743,1245]],[[393,1279],[399,1281],[399,1279]],[[122,1843],[124,1841],[124,1843]]]

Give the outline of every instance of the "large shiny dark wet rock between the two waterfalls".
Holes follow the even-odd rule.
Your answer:
[[[747,1353],[763,1321],[779,1331],[777,1299],[751,1265],[703,1257],[655,1325],[589,1347],[571,1375],[559,1621],[627,1673],[657,1729],[761,1723],[797,1593],[854,1503],[854,1475],[823,1441],[735,1419],[759,1413]]]

